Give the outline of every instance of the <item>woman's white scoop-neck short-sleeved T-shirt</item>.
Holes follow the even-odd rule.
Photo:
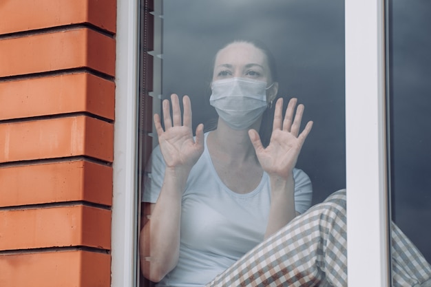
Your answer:
[[[249,193],[231,191],[218,177],[207,149],[191,169],[182,196],[180,257],[178,264],[157,286],[203,286],[262,242],[271,203],[269,176],[263,173]],[[143,202],[156,202],[165,174],[165,162],[156,147],[151,155]],[[311,181],[293,170],[295,209],[311,206]]]

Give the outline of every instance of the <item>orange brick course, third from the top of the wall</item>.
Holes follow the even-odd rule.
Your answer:
[[[0,120],[87,111],[114,120],[115,84],[88,73],[0,83]]]

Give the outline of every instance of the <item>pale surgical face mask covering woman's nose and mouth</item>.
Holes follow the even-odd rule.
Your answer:
[[[209,103],[229,127],[246,129],[266,109],[266,82],[249,78],[213,81]]]

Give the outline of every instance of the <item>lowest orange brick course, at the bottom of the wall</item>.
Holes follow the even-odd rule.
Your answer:
[[[0,286],[110,286],[111,257],[88,251],[0,255]]]

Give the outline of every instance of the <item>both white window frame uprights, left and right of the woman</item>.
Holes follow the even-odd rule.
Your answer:
[[[138,0],[117,1],[113,287],[136,286]],[[348,286],[390,286],[384,5],[346,0]]]

